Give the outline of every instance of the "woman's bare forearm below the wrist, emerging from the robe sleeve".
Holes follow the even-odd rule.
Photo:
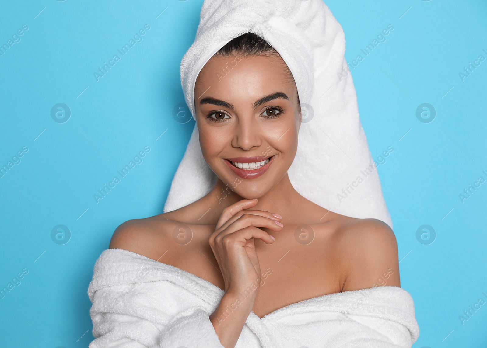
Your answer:
[[[254,294],[244,298],[241,292],[228,289],[210,315],[210,321],[225,348],[235,347],[254,302]]]

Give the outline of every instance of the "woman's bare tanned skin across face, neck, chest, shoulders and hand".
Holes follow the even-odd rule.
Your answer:
[[[124,222],[110,242],[223,289],[209,319],[225,348],[235,346],[251,311],[262,318],[321,295],[400,287],[397,243],[386,223],[324,209],[289,181],[300,109],[287,72],[279,56],[212,57],[196,81],[195,109],[215,187],[183,208]],[[225,163],[262,155],[274,161],[251,180]],[[187,243],[173,238],[181,224],[192,232]]]

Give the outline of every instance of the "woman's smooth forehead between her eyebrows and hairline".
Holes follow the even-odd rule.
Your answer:
[[[196,105],[205,96],[253,103],[273,92],[284,92],[290,99],[296,94],[296,85],[281,57],[213,56],[196,79],[194,98]]]

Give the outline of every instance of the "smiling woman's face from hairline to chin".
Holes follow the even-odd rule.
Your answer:
[[[228,187],[252,199],[279,183],[300,127],[298,91],[281,57],[213,56],[194,99],[203,157]]]

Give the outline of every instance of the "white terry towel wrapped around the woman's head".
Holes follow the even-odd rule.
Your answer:
[[[194,85],[206,62],[231,39],[252,32],[279,52],[293,73],[303,117],[288,174],[308,200],[338,214],[375,218],[392,227],[379,176],[360,123],[344,57],[341,26],[321,0],[205,0],[196,39],[181,62],[193,116]],[[191,134],[164,206],[168,212],[206,195],[216,175]]]

